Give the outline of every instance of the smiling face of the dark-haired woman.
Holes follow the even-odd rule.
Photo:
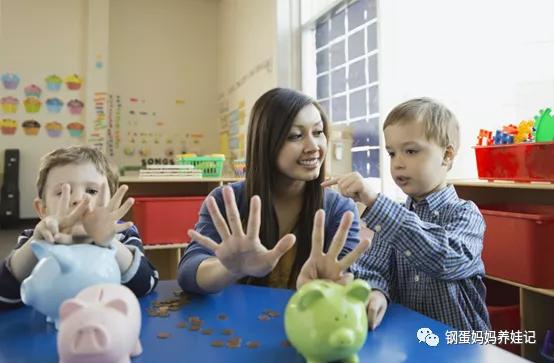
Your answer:
[[[301,181],[319,176],[327,153],[327,137],[323,133],[323,120],[313,105],[304,106],[293,124],[277,157],[280,174]]]

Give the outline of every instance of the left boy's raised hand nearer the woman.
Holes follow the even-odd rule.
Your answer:
[[[121,204],[123,196],[129,188],[126,185],[120,186],[108,204],[104,205],[105,195],[108,193],[107,188],[105,184],[102,186],[98,193],[98,204],[94,206],[94,209],[89,209],[82,218],[85,231],[99,246],[108,246],[116,233],[133,225],[133,222],[117,223],[135,203],[133,198],[128,198],[125,203]]]

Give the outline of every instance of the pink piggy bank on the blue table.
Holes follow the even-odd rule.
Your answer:
[[[140,305],[129,288],[87,287],[60,307],[60,363],[124,363],[142,353]]]

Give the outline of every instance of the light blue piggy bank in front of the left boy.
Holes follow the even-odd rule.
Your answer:
[[[121,282],[115,247],[33,241],[31,250],[39,261],[21,284],[21,300],[46,315],[56,328],[64,300],[91,285]]]

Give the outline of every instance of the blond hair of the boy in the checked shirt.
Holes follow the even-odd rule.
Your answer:
[[[414,98],[396,106],[387,116],[383,130],[388,126],[422,122],[425,137],[446,148],[452,145],[454,155],[460,147],[460,126],[456,116],[443,104],[427,97]]]

